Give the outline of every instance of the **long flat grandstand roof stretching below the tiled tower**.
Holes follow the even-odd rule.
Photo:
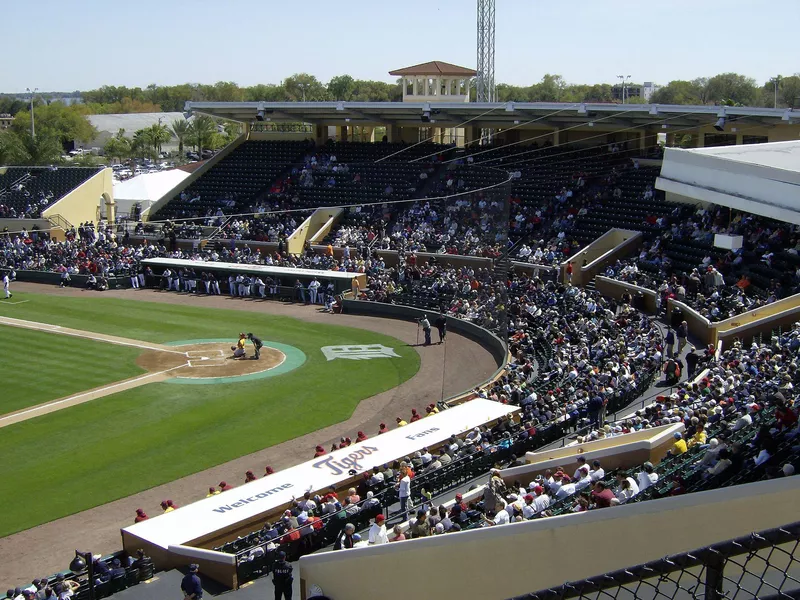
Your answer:
[[[563,102],[187,102],[186,112],[250,123],[398,127],[697,127],[729,122],[774,126],[800,121],[800,111],[754,107]]]

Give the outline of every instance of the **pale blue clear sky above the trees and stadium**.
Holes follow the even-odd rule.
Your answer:
[[[3,7],[0,92],[323,82],[428,60],[475,66],[475,0],[30,0]],[[496,81],[667,83],[800,70],[800,0],[497,0]]]

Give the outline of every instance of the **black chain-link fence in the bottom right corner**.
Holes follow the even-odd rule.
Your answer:
[[[512,600],[800,598],[798,545],[800,522]]]

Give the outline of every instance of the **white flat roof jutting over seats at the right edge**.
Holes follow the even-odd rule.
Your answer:
[[[667,148],[656,187],[800,225],[800,141]]]

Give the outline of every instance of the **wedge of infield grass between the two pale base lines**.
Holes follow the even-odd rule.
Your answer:
[[[134,362],[140,352],[0,325],[0,415],[144,373]]]

